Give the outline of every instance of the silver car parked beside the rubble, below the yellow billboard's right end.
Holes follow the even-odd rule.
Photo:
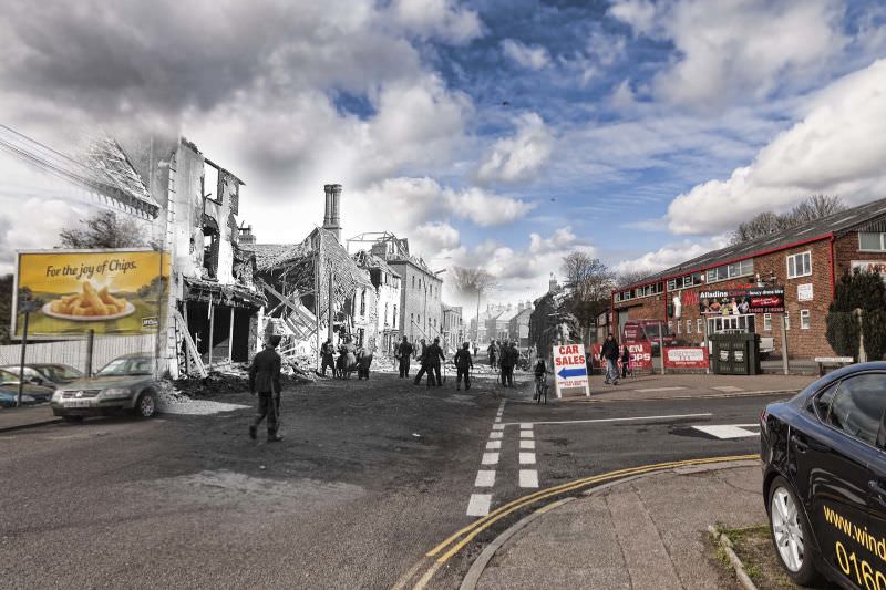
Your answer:
[[[59,387],[50,405],[54,415],[68,422],[123,412],[150,418],[157,411],[156,392],[154,356],[141,352],[114,359],[91,379]]]

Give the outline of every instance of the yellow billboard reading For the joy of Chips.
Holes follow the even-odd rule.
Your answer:
[[[35,309],[28,333],[37,338],[155,333],[169,261],[145,249],[18,252],[11,333],[21,337],[24,301]]]

